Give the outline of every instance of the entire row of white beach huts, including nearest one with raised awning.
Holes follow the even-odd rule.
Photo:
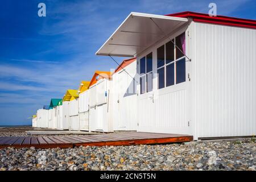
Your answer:
[[[131,13],[96,55],[133,58],[52,99],[33,126],[195,140],[255,135],[255,46],[256,20]]]

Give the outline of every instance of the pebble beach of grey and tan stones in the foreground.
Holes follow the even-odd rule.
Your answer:
[[[0,136],[26,136],[26,132],[5,131]],[[0,149],[1,171],[255,169],[254,139],[66,149]]]

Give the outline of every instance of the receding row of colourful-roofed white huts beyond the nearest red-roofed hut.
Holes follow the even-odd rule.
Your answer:
[[[63,98],[52,98],[49,105],[39,109],[32,117],[32,126],[106,133],[136,130],[136,107],[130,107],[136,103],[131,77],[135,74],[136,58],[124,60],[114,72],[96,71],[91,81],[81,81],[78,89],[67,90]],[[119,112],[125,115],[120,118],[114,114]]]

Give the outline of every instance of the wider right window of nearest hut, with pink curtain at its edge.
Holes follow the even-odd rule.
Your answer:
[[[157,49],[157,64],[158,89],[185,82],[185,33]]]

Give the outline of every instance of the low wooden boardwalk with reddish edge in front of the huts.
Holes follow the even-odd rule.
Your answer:
[[[47,137],[0,137],[0,148],[36,147],[36,148],[69,148],[75,146],[129,146],[135,144],[158,144],[189,142],[190,135],[125,132],[80,136],[47,136]]]

